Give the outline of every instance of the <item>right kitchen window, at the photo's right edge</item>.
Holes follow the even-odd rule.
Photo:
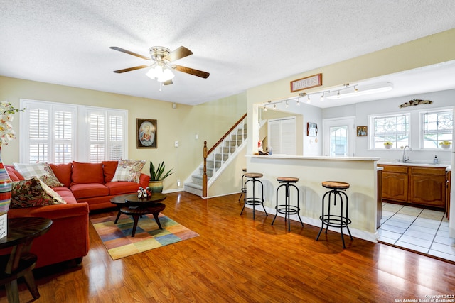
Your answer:
[[[452,139],[454,113],[451,110],[422,113],[422,148],[441,148],[442,141]]]

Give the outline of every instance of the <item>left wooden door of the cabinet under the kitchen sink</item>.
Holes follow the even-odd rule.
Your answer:
[[[408,202],[408,167],[380,165],[382,170],[382,199]]]

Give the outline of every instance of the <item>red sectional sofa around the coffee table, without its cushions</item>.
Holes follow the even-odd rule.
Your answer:
[[[139,187],[148,186],[149,176],[144,174],[141,174],[139,184],[111,182],[117,165],[117,161],[49,164],[64,185],[53,189],[66,204],[9,209],[9,218],[39,216],[53,221],[50,230],[33,241],[31,253],[38,256],[36,268],[73,259],[80,263],[89,250],[89,211],[112,208],[112,197],[136,193]],[[11,181],[23,180],[13,165],[5,167]],[[7,251],[0,251],[0,255],[5,253]]]

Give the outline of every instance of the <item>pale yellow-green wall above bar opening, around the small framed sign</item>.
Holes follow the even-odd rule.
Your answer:
[[[248,89],[247,120],[250,123],[253,119],[257,119],[255,118],[257,117],[257,106],[253,106],[253,104],[263,103],[267,100],[287,99],[296,97],[301,92],[316,92],[345,83],[359,82],[451,60],[455,60],[455,28]],[[323,82],[321,87],[290,92],[289,83],[292,80],[316,75],[320,72]],[[257,148],[255,144],[258,133],[257,125],[252,124],[252,128],[248,128],[248,131],[248,138],[251,138],[251,141],[247,146],[247,155],[251,155]]]

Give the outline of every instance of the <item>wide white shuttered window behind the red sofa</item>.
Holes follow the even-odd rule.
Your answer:
[[[125,110],[21,99],[21,162],[127,158]]]

